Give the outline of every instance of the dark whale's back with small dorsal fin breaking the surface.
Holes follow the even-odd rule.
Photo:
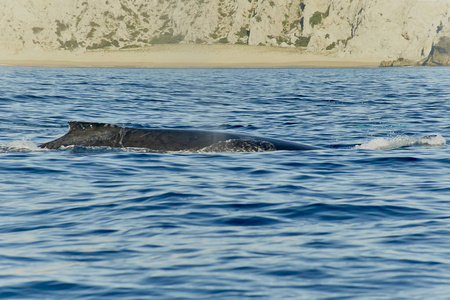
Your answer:
[[[39,147],[58,149],[61,146],[71,145],[145,148],[156,152],[259,152],[320,149],[245,134],[184,129],[139,129],[77,121],[69,122],[69,131],[64,136]]]

